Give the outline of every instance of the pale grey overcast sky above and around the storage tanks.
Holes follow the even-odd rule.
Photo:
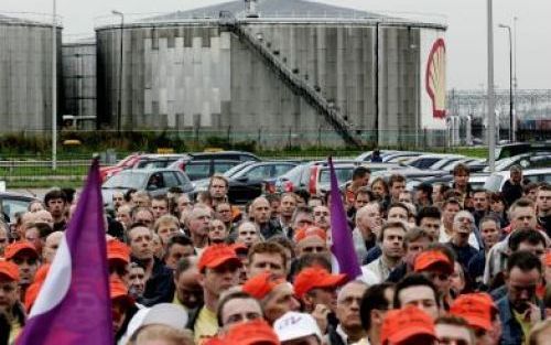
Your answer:
[[[52,0],[0,0],[0,12],[52,12]],[[269,1],[269,0],[268,0]],[[482,88],[486,85],[485,0],[315,0],[334,6],[381,13],[442,14],[449,24],[449,88]],[[116,9],[125,13],[159,13],[187,10],[220,0],[57,0],[64,34],[94,34],[99,17]],[[509,85],[508,36],[498,23],[511,24],[518,17],[517,76],[519,88],[551,88],[551,1],[494,0],[496,79]],[[407,14],[402,14],[407,17]]]

